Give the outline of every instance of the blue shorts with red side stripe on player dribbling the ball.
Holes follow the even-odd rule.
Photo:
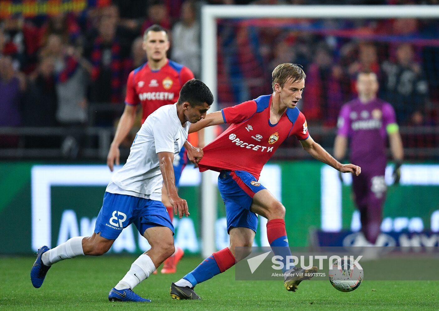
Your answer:
[[[258,215],[250,211],[253,196],[266,189],[245,171],[223,170],[218,176],[218,190],[226,205],[227,232],[231,228],[244,227],[256,232]]]

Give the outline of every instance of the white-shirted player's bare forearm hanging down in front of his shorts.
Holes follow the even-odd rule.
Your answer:
[[[168,191],[169,202],[174,207],[174,214],[178,214],[181,218],[183,215],[189,216],[189,210],[187,208],[186,200],[180,198],[175,186],[174,167],[172,162],[174,161],[174,154],[172,152],[158,152],[158,163],[160,164],[160,171],[163,176],[163,183]]]

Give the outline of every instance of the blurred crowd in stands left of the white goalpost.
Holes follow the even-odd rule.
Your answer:
[[[175,34],[169,56],[198,76],[195,3],[168,2],[121,0],[79,16],[4,19],[0,126],[83,125],[88,103],[123,104],[128,74],[145,62],[141,35],[155,23]],[[112,126],[114,118],[100,115],[96,125]]]

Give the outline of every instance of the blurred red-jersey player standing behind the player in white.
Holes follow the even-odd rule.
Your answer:
[[[174,104],[178,100],[181,87],[187,81],[194,79],[192,71],[169,60],[166,52],[169,50],[169,39],[166,29],[159,25],[152,25],[144,32],[143,48],[148,61],[130,72],[126,82],[125,110],[117,126],[110,151],[107,156],[107,165],[113,171],[113,165],[119,165],[119,146],[130,132],[136,119],[137,107],[142,105],[142,124],[145,119],[164,105]],[[184,148],[174,161],[175,182],[178,187],[181,172],[186,165]],[[171,222],[173,207],[169,202],[166,191],[162,191],[162,202],[168,210]],[[176,247],[175,254],[163,263],[162,273],[175,273],[176,264],[183,256],[183,250]]]

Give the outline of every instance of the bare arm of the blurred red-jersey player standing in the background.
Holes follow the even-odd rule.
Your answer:
[[[122,117],[120,117],[113,142],[110,145],[110,150],[108,151],[107,155],[107,165],[112,172],[113,165],[115,163],[116,165],[120,164],[119,146],[122,143],[123,139],[125,139],[130,130],[133,128],[134,121],[136,120],[136,111],[137,106],[126,105]]]

